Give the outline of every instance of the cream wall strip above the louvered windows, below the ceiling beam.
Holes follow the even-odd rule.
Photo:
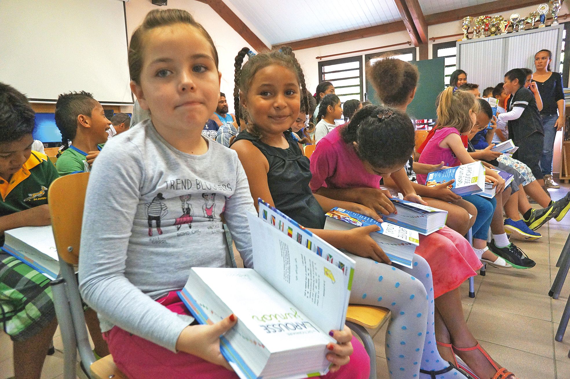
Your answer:
[[[504,18],[508,19],[511,14],[519,13],[521,15],[528,15],[531,11],[535,11],[537,6],[530,6],[524,7],[519,9],[514,9],[511,11],[505,11],[500,13],[503,15]],[[560,15],[570,13],[568,2],[563,3],[562,9],[560,10]],[[461,21],[453,21],[453,22],[446,22],[439,25],[431,25],[428,27],[428,38],[432,37],[442,37],[444,35],[453,35],[463,33],[461,30]],[[461,37],[459,37],[461,38]],[[432,45],[434,43],[442,43],[448,41],[456,41],[456,38],[446,38],[446,39],[437,39],[435,42],[429,41],[428,46],[428,58],[431,57],[431,50]],[[323,55],[329,54],[339,54],[345,53],[347,51],[355,51],[355,50],[363,50],[363,49],[372,49],[378,46],[386,46],[386,45],[393,45],[395,43],[405,43],[410,41],[410,37],[407,31],[400,31],[396,33],[389,33],[384,35],[379,35],[377,37],[368,37],[357,39],[355,41],[347,41],[347,42],[339,42],[339,43],[332,43],[331,45],[324,45],[324,46],[317,46],[311,47],[310,49],[303,49],[303,50],[295,50],[295,55],[299,59],[299,63],[303,67],[303,72],[305,74],[305,78],[307,81],[307,88],[311,93],[315,92],[317,84],[319,84],[319,59],[316,57],[321,57]],[[364,54],[371,54],[371,53],[379,53],[382,51],[391,51],[394,49],[407,49],[410,46],[402,45],[397,47],[390,47],[388,49],[376,49],[366,51],[365,53],[356,53],[356,54],[346,54],[346,55],[339,55],[337,57],[331,58],[324,58],[322,61],[327,61],[329,59],[337,59],[337,58],[345,58],[345,57],[355,57],[356,55],[364,55]],[[416,51],[416,54],[419,54]]]

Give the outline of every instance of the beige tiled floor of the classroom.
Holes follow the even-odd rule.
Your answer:
[[[570,186],[565,185],[550,191],[558,199],[568,190]],[[475,277],[475,299],[467,296],[467,283],[463,284],[463,311],[467,325],[483,348],[519,379],[568,379],[570,331],[563,342],[556,342],[554,334],[570,295],[570,278],[558,300],[548,297],[548,291],[558,271],[556,260],[570,232],[570,212],[560,223],[551,220],[540,232],[543,237],[538,241],[516,241],[536,261],[536,266],[528,270],[489,267],[486,276]],[[374,335],[378,378],[388,378],[385,332],[386,326]],[[54,344],[56,349],[63,348],[59,329]],[[12,375],[11,341],[0,332],[0,379]],[[60,352],[47,357],[42,379],[63,379]]]

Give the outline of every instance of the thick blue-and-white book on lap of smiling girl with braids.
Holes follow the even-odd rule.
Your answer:
[[[416,247],[420,245],[420,236],[417,231],[387,222],[379,223],[368,216],[339,207],[332,208],[331,211],[327,212],[324,228],[349,230],[369,225],[380,227],[379,231],[370,233],[370,237],[376,241],[390,260],[393,263],[412,268],[414,252]]]

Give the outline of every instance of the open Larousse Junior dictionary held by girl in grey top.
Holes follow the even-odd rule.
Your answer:
[[[300,226],[288,235],[255,215],[248,219],[255,269],[194,267],[179,296],[201,324],[237,316],[220,350],[240,378],[324,375],[326,346],[335,342],[328,332],[344,326],[355,262],[311,237],[320,251],[343,260],[351,273],[345,276],[292,237],[304,232]]]

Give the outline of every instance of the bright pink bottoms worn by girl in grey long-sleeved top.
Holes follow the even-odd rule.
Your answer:
[[[179,315],[190,315],[184,303],[178,299],[176,291],[157,300],[170,311]],[[117,368],[129,379],[239,379],[237,374],[192,354],[170,350],[153,344],[144,338],[114,326],[103,333],[109,345],[109,352]],[[324,379],[367,379],[370,372],[370,359],[364,346],[352,337],[354,352],[347,365],[336,373],[328,373]]]

